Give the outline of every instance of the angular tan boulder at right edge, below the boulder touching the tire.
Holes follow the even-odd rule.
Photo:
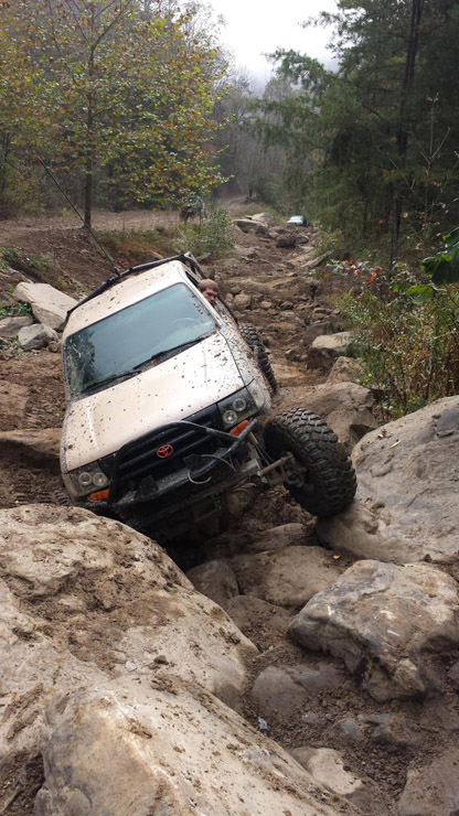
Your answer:
[[[458,584],[427,565],[359,561],[309,601],[289,635],[342,658],[377,700],[417,697],[440,687],[435,655],[459,646]]]

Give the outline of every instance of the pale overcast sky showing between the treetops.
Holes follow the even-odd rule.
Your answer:
[[[237,65],[258,79],[268,79],[271,71],[263,54],[277,47],[293,49],[331,63],[325,49],[330,31],[302,29],[300,23],[320,11],[333,11],[334,0],[209,0],[209,4],[225,18],[223,44],[234,53]]]

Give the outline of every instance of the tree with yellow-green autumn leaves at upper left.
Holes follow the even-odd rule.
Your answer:
[[[121,202],[163,206],[220,179],[207,148],[217,51],[193,33],[196,7],[164,6],[20,0],[4,13],[11,47],[25,43],[41,77],[50,158],[83,176],[87,225],[96,179]]]

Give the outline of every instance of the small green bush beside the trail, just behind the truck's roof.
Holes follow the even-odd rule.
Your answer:
[[[232,249],[233,240],[226,210],[213,205],[200,224],[183,226],[175,241],[175,248],[178,251],[191,251],[196,256],[209,253],[213,257],[218,257]]]

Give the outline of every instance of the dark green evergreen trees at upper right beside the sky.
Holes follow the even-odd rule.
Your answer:
[[[284,94],[259,106],[266,140],[288,155],[291,201],[355,250],[425,253],[459,216],[459,8],[441,0],[338,0],[339,63],[279,51]]]

